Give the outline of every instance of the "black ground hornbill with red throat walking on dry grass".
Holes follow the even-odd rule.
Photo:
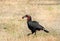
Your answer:
[[[36,31],[37,31],[37,30],[38,30],[38,31],[43,30],[44,32],[49,33],[49,31],[48,31],[48,30],[45,30],[45,28],[44,28],[43,26],[41,26],[37,21],[32,21],[30,15],[25,15],[25,16],[22,17],[22,19],[25,18],[25,17],[27,18],[28,28],[29,28],[29,29],[31,30],[31,32],[32,32],[32,33],[29,33],[28,36],[29,36],[30,34],[33,34],[33,33],[35,33],[35,35],[36,35]]]

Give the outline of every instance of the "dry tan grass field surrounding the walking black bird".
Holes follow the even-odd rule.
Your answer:
[[[33,2],[0,0],[0,41],[60,41],[60,5],[39,5]],[[50,33],[37,31],[36,36],[27,36],[31,32],[26,19],[22,19],[26,14],[31,15]]]

